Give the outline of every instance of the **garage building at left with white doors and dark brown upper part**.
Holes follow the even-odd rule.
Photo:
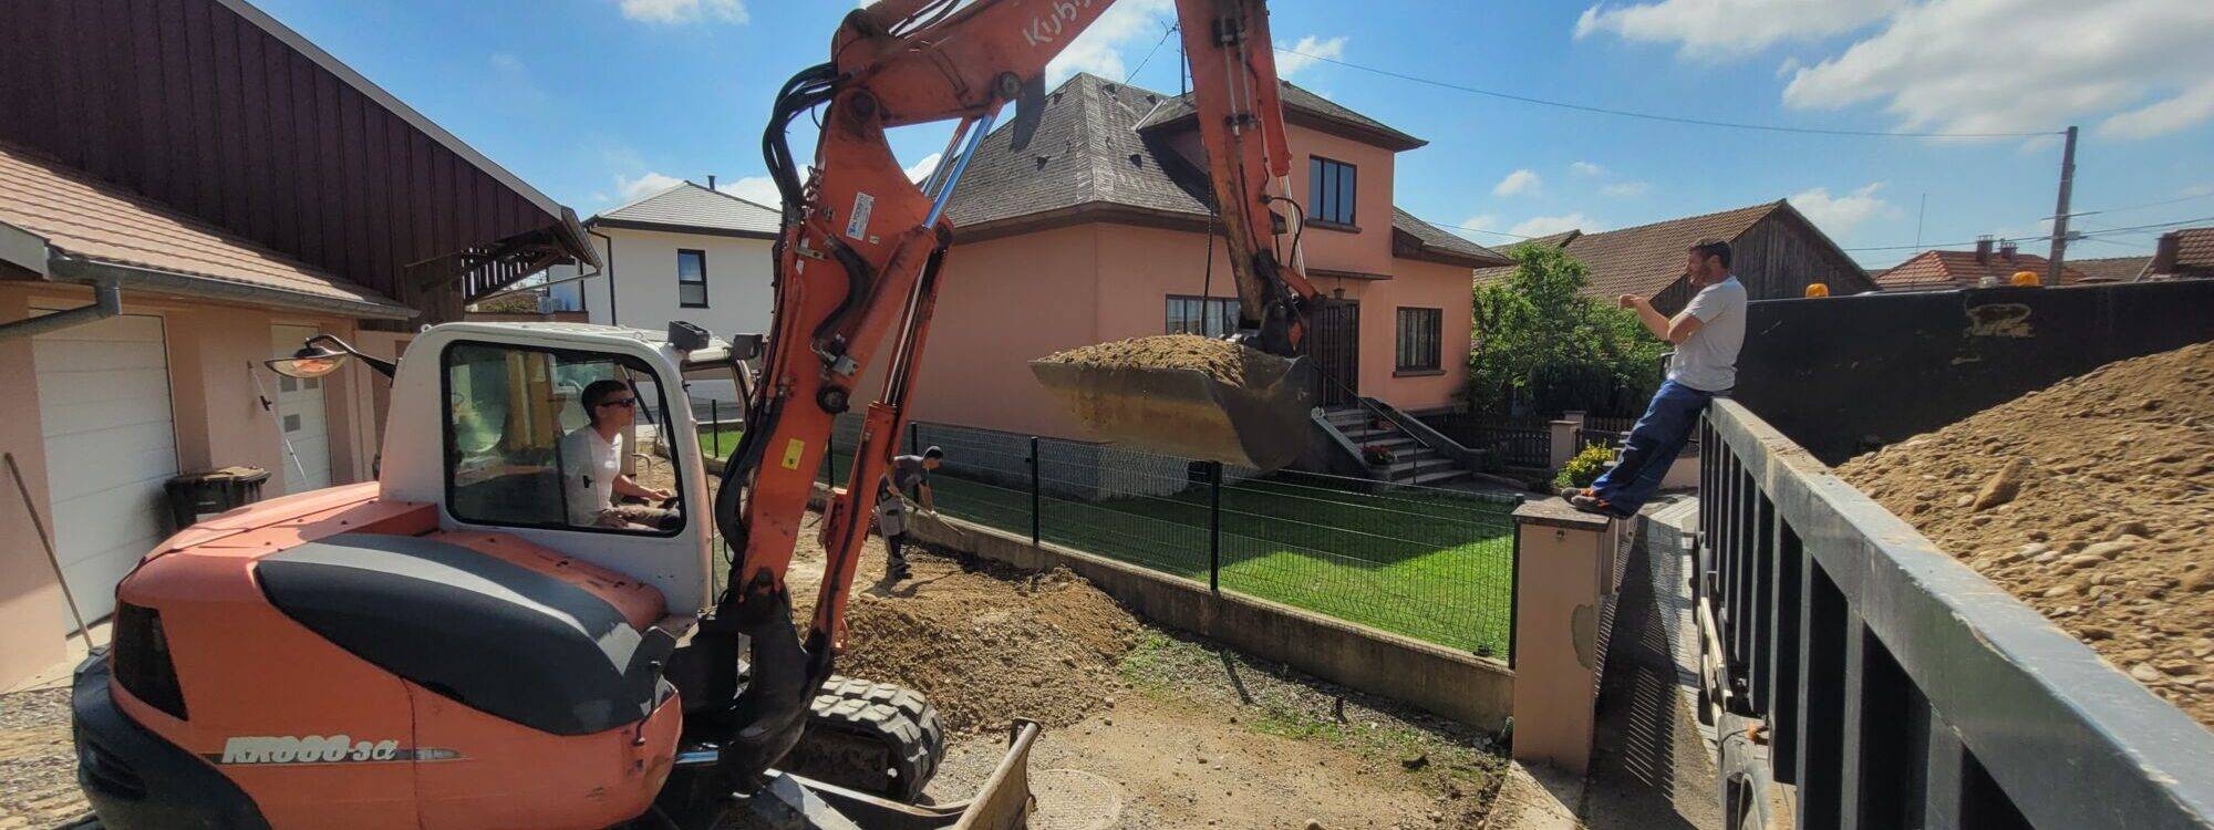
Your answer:
[[[596,259],[576,215],[244,0],[0,4],[0,688],[175,531],[164,483],[372,478],[383,378],[266,370]],[[29,505],[27,505],[29,502]],[[38,518],[38,522],[33,522]],[[62,582],[44,560],[49,529]]]

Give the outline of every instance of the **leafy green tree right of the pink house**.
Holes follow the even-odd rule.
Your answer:
[[[1479,416],[1643,407],[1667,345],[1636,314],[1583,297],[1592,272],[1554,246],[1508,248],[1514,270],[1470,294],[1468,407]]]

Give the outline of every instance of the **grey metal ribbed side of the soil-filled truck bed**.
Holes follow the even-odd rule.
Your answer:
[[[1703,434],[1709,693],[1769,719],[1798,826],[1990,806],[2037,828],[2214,826],[2214,733],[1745,405],[1714,401]]]

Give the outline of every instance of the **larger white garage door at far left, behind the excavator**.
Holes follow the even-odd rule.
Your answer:
[[[162,319],[111,317],[31,339],[62,578],[86,620],[168,533],[162,483],[177,476]]]

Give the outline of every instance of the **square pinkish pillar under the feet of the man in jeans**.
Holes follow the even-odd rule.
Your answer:
[[[1559,498],[1514,509],[1514,759],[1583,775],[1599,702],[1612,520]]]

